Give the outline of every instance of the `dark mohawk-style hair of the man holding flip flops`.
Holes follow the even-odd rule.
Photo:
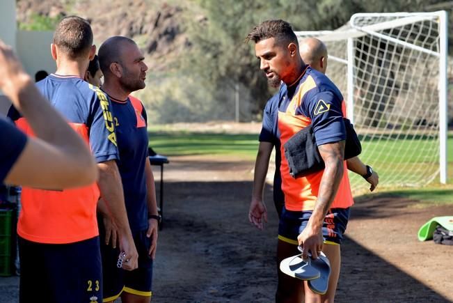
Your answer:
[[[297,37],[292,30],[291,24],[283,20],[267,20],[262,22],[260,25],[255,26],[246,37],[246,42],[253,40],[255,43],[261,40],[269,38],[275,38],[276,43],[291,43],[297,42]]]

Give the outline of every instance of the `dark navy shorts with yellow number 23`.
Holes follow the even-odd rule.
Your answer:
[[[69,244],[18,241],[19,302],[102,302],[99,237]]]

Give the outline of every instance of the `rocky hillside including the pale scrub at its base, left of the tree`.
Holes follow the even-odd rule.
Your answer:
[[[26,29],[42,30],[42,26],[30,24],[52,29],[61,17],[79,15],[90,21],[98,47],[110,36],[134,39],[149,67],[147,87],[137,95],[145,103],[150,121],[160,123],[235,118],[234,88],[225,90],[228,100],[218,100],[212,94],[214,88],[205,89],[214,84],[182,72],[185,67],[190,74],[192,68],[187,62],[195,42],[189,40],[189,32],[194,24],[200,25],[198,29],[207,24],[201,11],[196,1],[183,0],[17,0],[17,22],[27,25]],[[244,115],[250,116],[249,104],[243,98]]]

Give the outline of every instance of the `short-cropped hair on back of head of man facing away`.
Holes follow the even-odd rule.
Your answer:
[[[64,17],[56,26],[54,45],[62,49],[71,59],[77,59],[86,54],[93,45],[93,31],[90,24],[81,17]]]

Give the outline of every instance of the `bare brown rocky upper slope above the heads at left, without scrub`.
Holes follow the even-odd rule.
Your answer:
[[[166,68],[172,54],[177,57],[175,54],[190,46],[182,22],[188,11],[183,6],[162,1],[17,1],[19,23],[33,22],[36,15],[55,20],[65,15],[79,15],[90,20],[98,47],[110,36],[133,38],[145,54],[154,59],[154,70]],[[165,62],[159,60],[164,55]]]

